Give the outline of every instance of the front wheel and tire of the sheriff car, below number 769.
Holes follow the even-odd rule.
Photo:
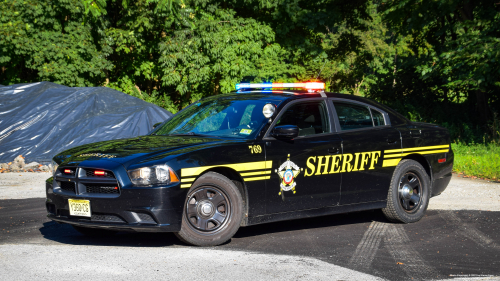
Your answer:
[[[208,172],[189,189],[181,231],[175,235],[195,246],[220,245],[233,237],[243,219],[243,198],[225,176]]]

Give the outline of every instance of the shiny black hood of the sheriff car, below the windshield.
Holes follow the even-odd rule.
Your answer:
[[[113,161],[129,166],[191,146],[216,145],[231,142],[218,138],[197,136],[141,136],[77,146],[54,157],[57,164],[76,165],[83,161]]]

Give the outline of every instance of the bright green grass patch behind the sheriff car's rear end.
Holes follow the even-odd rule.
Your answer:
[[[500,179],[500,144],[452,143],[455,153],[453,171],[467,176]]]

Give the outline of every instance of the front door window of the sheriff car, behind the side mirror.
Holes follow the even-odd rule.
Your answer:
[[[299,127],[299,136],[329,133],[330,123],[326,104],[323,101],[294,104],[286,109],[276,122],[276,126],[281,125]]]

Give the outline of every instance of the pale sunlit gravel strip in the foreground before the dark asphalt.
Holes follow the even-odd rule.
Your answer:
[[[0,264],[0,280],[382,280],[313,258],[195,247],[2,245]]]

